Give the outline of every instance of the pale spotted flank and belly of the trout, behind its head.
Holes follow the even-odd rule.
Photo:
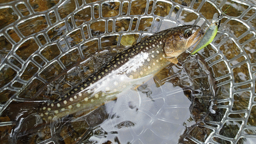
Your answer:
[[[124,65],[112,70],[111,73],[104,77],[101,75],[107,73],[109,69],[102,70],[98,75],[92,77],[94,80],[98,79],[97,82],[93,84],[85,83],[83,86],[77,87],[74,91],[71,91],[71,94],[76,91],[79,92],[66,100],[59,99],[60,102],[58,103],[47,103],[47,106],[39,109],[39,115],[46,122],[56,121],[58,118],[74,114],[77,111],[92,111],[107,101],[117,99],[119,95],[122,95],[127,90],[135,89],[134,87],[153,77],[158,72],[157,69],[161,70],[170,64],[170,61],[163,58],[162,47],[159,45],[155,45],[155,47],[158,47],[156,51],[151,51],[150,53],[140,52],[132,59],[127,58],[127,62]],[[121,59],[115,61],[115,63],[122,63]],[[113,67],[115,66],[116,64],[113,65]]]

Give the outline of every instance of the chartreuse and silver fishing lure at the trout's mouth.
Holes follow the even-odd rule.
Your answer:
[[[197,45],[191,51],[190,55],[196,54],[198,51],[200,51],[201,49],[203,49],[205,46],[209,45],[213,41],[220,27],[221,17],[222,17],[222,14],[218,15],[218,13],[215,13],[213,15],[213,19],[210,27],[207,28],[203,37],[199,40]]]

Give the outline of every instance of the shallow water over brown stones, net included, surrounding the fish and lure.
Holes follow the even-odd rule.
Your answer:
[[[213,14],[225,11],[229,4],[3,1],[2,143],[10,142],[16,124],[2,113],[12,101],[58,99],[124,49],[116,45],[129,46],[181,24],[206,29]],[[199,51],[199,57],[183,54],[178,65],[167,67],[137,91],[89,115],[81,111],[19,136],[17,142],[253,143],[255,10],[252,1],[234,2],[214,41]]]

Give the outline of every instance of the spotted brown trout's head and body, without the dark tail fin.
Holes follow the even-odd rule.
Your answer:
[[[170,28],[137,43],[117,54],[97,73],[75,87],[62,99],[41,103],[38,115],[45,122],[93,110],[118,95],[142,84],[169,65],[202,37],[200,27],[188,25]]]

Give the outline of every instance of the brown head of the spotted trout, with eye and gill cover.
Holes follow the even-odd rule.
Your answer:
[[[164,36],[163,51],[166,57],[177,58],[203,37],[201,27],[196,25],[185,25],[175,27],[167,31]]]

